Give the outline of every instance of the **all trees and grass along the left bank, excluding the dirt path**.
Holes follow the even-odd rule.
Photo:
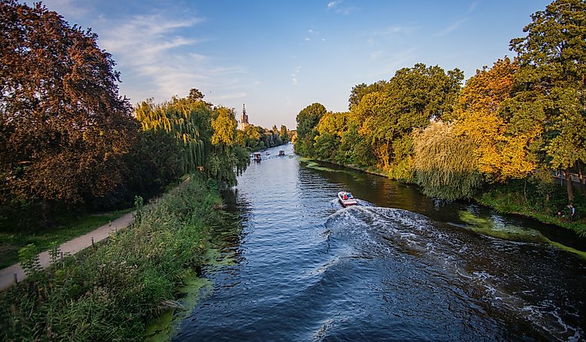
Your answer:
[[[176,288],[202,265],[211,232],[232,224],[218,189],[236,184],[250,148],[283,142],[288,132],[275,126],[260,137],[239,135],[234,110],[204,101],[195,88],[133,108],[119,96],[119,73],[98,36],[42,3],[0,1],[0,31],[7,66],[0,71],[0,255],[4,262],[18,254],[28,273],[0,295],[0,339],[140,339],[144,323],[178,305]],[[188,174],[187,185],[142,206]],[[64,213],[76,221],[128,209],[135,198],[129,228],[58,260],[59,242],[73,233]],[[47,247],[53,265],[44,272],[37,253]]]

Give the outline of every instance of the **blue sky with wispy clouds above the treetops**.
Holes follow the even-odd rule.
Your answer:
[[[44,1],[98,33],[133,104],[196,87],[237,117],[245,103],[251,123],[288,128],[305,106],[345,111],[354,85],[417,62],[469,78],[512,56],[510,39],[550,2]]]

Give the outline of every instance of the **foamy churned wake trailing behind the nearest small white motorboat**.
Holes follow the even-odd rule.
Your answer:
[[[388,270],[385,282],[397,282],[390,275],[409,268],[417,276],[406,277],[413,277],[411,286],[417,291],[453,293],[447,301],[455,302],[449,305],[454,319],[458,315],[454,308],[476,307],[479,316],[508,317],[500,324],[537,327],[541,334],[536,339],[579,341],[585,336],[580,312],[585,302],[569,300],[568,293],[559,291],[567,287],[561,284],[567,279],[554,276],[563,264],[575,262],[568,253],[548,250],[554,257],[535,265],[527,255],[542,253],[542,244],[486,237],[406,210],[372,205],[338,210],[325,226],[331,250],[361,260],[376,259],[378,268]],[[585,285],[583,278],[578,280],[576,291],[584,292]]]

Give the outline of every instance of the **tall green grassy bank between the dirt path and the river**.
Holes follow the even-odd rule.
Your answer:
[[[190,180],[96,248],[35,271],[0,298],[0,340],[142,339],[145,323],[177,305],[175,289],[202,264],[222,225],[214,182]]]

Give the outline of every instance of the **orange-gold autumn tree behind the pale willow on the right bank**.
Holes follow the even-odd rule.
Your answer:
[[[499,59],[490,69],[477,70],[458,97],[454,130],[474,143],[478,169],[493,181],[524,178],[537,166],[531,144],[542,123],[531,115],[522,119],[522,108],[510,102],[518,69],[509,58]]]

